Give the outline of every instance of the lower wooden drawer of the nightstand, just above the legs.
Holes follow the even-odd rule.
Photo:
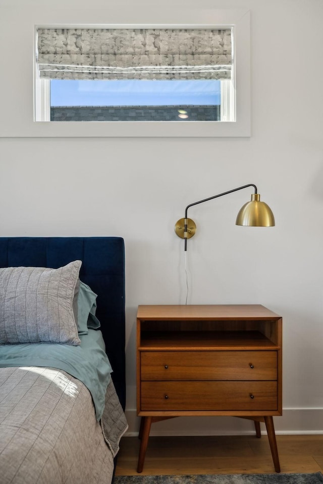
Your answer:
[[[276,382],[142,382],[141,410],[276,410]]]

